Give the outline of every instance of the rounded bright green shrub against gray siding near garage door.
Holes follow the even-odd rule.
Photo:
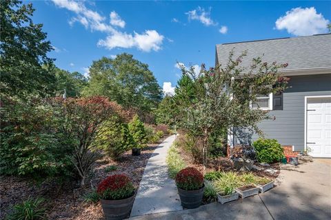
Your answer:
[[[258,139],[252,145],[257,151],[259,162],[274,163],[284,157],[283,148],[275,139]]]

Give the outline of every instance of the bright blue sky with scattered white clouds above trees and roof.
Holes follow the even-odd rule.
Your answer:
[[[323,34],[331,21],[331,1],[27,2],[59,68],[88,76],[92,61],[127,52],[148,64],[165,92],[181,66],[214,66],[217,44]]]

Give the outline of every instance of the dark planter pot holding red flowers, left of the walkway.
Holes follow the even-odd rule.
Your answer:
[[[130,215],[130,211],[134,201],[134,195],[128,199],[106,200],[100,199],[103,213],[107,220],[126,219]]]

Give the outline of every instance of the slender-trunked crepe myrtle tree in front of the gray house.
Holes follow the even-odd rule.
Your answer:
[[[203,172],[212,132],[235,127],[262,134],[257,123],[270,116],[268,111],[251,108],[251,104],[257,102],[261,94],[281,92],[287,87],[288,78],[278,73],[287,63],[266,63],[258,57],[252,59],[248,68],[243,68],[240,63],[246,54],[247,51],[234,59],[232,51],[225,66],[207,70],[202,64],[198,74],[194,68],[181,69],[188,88],[179,83],[176,89],[178,94],[174,99],[181,106],[179,123],[181,128],[203,140]]]

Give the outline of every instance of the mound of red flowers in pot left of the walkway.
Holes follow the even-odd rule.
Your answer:
[[[125,174],[115,174],[99,183],[97,193],[100,199],[126,199],[134,194],[134,186],[130,178]]]

